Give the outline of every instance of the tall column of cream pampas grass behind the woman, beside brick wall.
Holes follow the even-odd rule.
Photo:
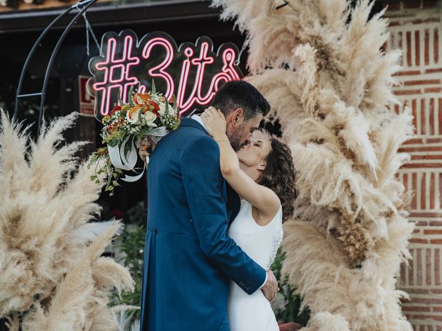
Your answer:
[[[298,173],[283,272],[312,312],[302,330],[411,331],[395,274],[414,225],[396,173],[413,134],[396,113],[398,50],[374,1],[214,0],[249,46],[247,81],[272,106]]]

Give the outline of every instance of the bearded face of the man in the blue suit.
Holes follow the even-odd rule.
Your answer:
[[[240,112],[236,110],[227,118],[227,137],[229,137],[230,144],[233,150],[239,150],[247,143],[251,143],[251,134],[258,130],[262,121],[262,114],[257,114],[249,121],[244,122],[244,113],[242,109]]]

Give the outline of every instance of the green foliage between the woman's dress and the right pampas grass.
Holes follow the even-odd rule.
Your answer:
[[[273,303],[273,310],[278,321],[296,322],[300,325],[307,325],[310,319],[310,310],[308,307],[301,310],[302,298],[295,294],[296,288],[292,287],[288,283],[287,277],[282,279],[281,268],[282,262],[285,259],[285,254],[278,250],[276,259],[271,265],[271,270],[278,279],[280,292],[276,296],[276,300]]]

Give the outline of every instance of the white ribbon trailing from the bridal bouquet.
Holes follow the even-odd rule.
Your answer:
[[[167,133],[166,127],[161,126],[160,128],[153,129],[149,135],[151,135],[152,138],[157,137],[155,138],[155,143],[157,143],[157,141],[159,141],[161,137],[164,137]],[[126,143],[131,138],[131,150],[128,150],[128,152],[125,153],[124,150],[126,149]],[[121,146],[108,146],[109,159],[111,159],[111,163],[115,168],[122,170],[134,170],[135,164],[137,163],[137,148],[135,147],[134,139],[135,137],[128,136],[124,139]],[[149,163],[149,157],[146,157],[146,163]],[[145,169],[146,165],[144,165],[143,171],[140,174],[137,174],[136,176],[128,176],[125,174],[122,180],[128,182],[137,181],[143,176]]]

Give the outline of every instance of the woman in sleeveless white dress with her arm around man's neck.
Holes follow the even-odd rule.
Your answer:
[[[222,112],[213,107],[201,116],[220,146],[222,176],[242,198],[229,236],[265,270],[282,241],[282,222],[294,212],[297,191],[291,151],[277,139],[253,141],[237,152],[226,135]],[[231,281],[228,303],[231,331],[278,331],[276,317],[261,291],[249,295]]]

